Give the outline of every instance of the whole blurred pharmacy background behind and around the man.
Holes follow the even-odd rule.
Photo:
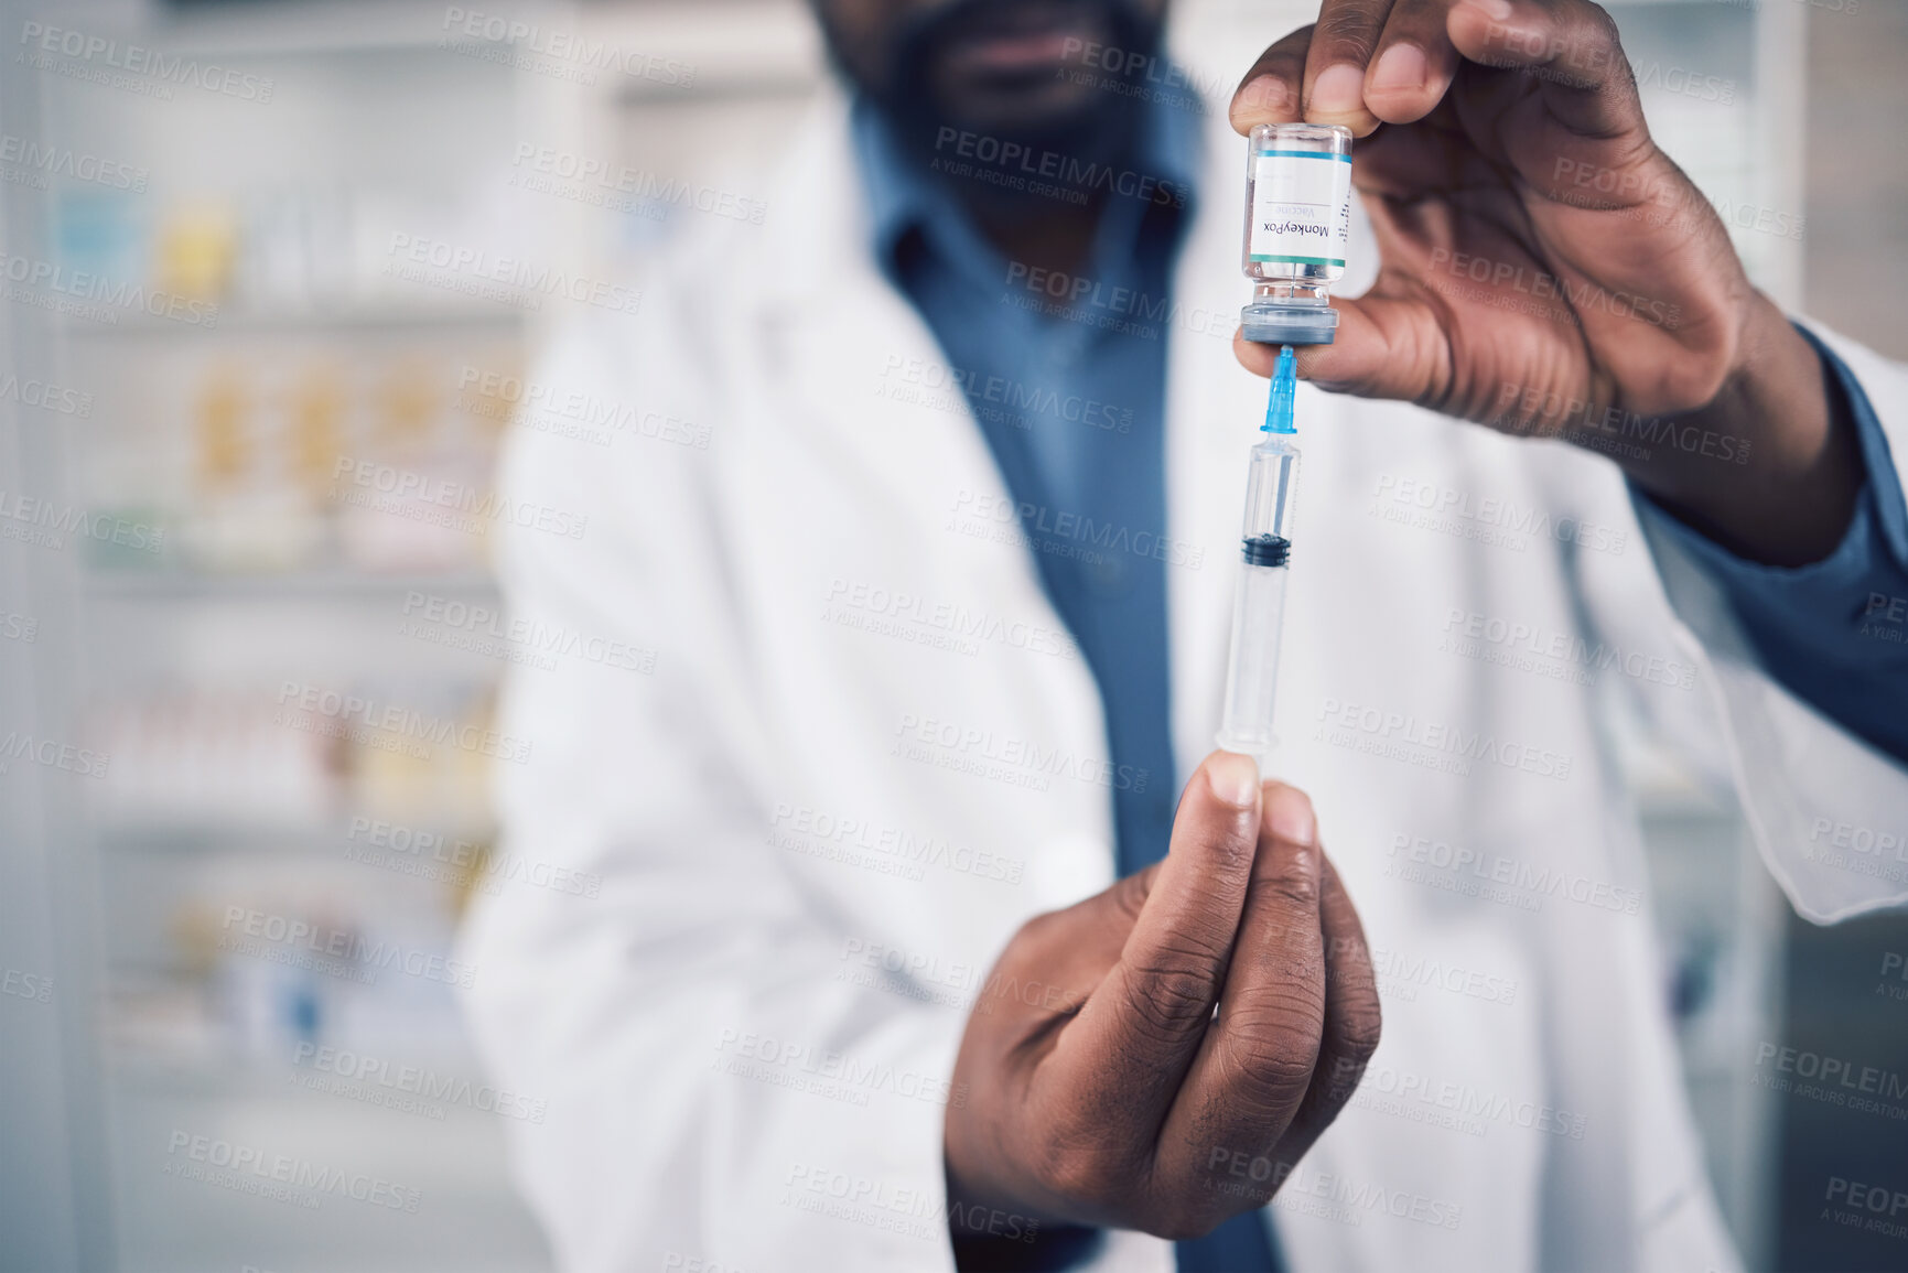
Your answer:
[[[1311,15],[1177,6],[1213,88]],[[1761,286],[1908,357],[1908,2],[1610,8]],[[614,303],[773,218],[822,76],[799,0],[0,0],[0,1269],[550,1267],[504,1157],[536,1103],[452,1000],[473,889],[586,886],[490,845],[494,687],[544,657],[490,578],[492,454],[708,443],[527,389],[584,303],[548,281]],[[1626,750],[1750,1265],[1908,1267],[1824,1206],[1908,1187],[1908,1130],[1752,1080],[1767,1044],[1902,1065],[1908,922],[1794,922],[1736,811]],[[309,1208],[179,1174],[195,1145],[376,1183]]]

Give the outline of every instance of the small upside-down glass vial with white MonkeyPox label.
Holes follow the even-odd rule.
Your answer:
[[[1328,345],[1338,332],[1332,284],[1351,242],[1351,130],[1259,124],[1246,141],[1246,340]]]

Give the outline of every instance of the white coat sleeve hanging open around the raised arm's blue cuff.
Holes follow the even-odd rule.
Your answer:
[[[1868,395],[1898,477],[1898,456],[1908,454],[1908,370],[1816,334]],[[1908,903],[1908,767],[1784,689],[1666,513],[1637,500],[1637,517],[1675,611],[1675,636],[1698,657],[1719,704],[1750,832],[1790,903],[1818,924]],[[1860,601],[1851,597],[1851,607]]]

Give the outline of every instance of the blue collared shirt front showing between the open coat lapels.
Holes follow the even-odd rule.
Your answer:
[[[914,157],[864,99],[855,143],[876,258],[914,302],[1019,506],[1040,580],[1099,681],[1120,870],[1166,853],[1179,792],[1168,712],[1166,313],[1191,221],[1198,116],[1145,115],[1120,166]],[[1107,204],[1078,273],[1007,260],[956,200],[960,181],[1036,181]]]

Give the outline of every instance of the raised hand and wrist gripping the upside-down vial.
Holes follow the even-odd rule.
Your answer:
[[[1855,429],[1820,357],[1652,141],[1601,8],[1324,0],[1317,25],[1259,55],[1231,118],[1255,149],[1263,130],[1301,122],[1360,137],[1351,181],[1378,281],[1332,300],[1336,338],[1299,351],[1301,378],[1591,447],[1607,420],[1675,420],[1748,456],[1610,456],[1685,521],[1773,565],[1841,540],[1862,479]],[[1267,300],[1311,300],[1322,279],[1297,273],[1261,279],[1286,288]],[[1250,311],[1242,328],[1238,359],[1271,374]]]

